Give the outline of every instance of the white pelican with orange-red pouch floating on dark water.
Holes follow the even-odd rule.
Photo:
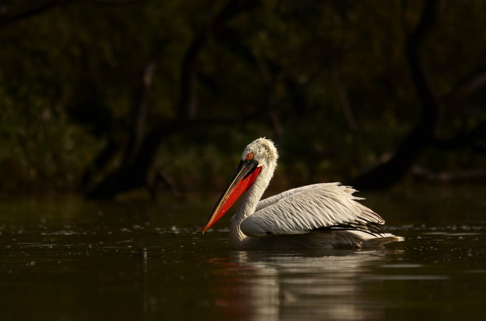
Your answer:
[[[299,187],[260,200],[277,166],[272,141],[249,144],[226,190],[203,227],[213,226],[245,193],[231,218],[229,243],[235,249],[358,249],[403,238],[384,233],[381,218],[357,202],[353,188],[338,182]]]

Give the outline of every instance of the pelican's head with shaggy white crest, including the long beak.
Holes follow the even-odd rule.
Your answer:
[[[252,186],[262,170],[271,178],[277,159],[277,149],[272,141],[265,138],[259,138],[245,147],[233,177],[203,227],[203,234]]]

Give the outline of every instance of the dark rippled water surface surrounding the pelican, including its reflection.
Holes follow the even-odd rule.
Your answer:
[[[200,233],[217,195],[1,198],[0,320],[485,319],[485,187],[359,196],[406,241],[233,251],[229,214]]]

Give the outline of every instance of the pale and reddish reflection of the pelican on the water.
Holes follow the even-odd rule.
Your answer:
[[[383,308],[362,296],[360,281],[385,257],[384,251],[231,252],[228,260],[212,260],[231,271],[219,280],[226,295],[218,304],[254,320],[382,319]]]

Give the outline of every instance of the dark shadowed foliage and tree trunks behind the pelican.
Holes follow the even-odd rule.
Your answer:
[[[0,2],[0,190],[484,178],[482,1]]]

